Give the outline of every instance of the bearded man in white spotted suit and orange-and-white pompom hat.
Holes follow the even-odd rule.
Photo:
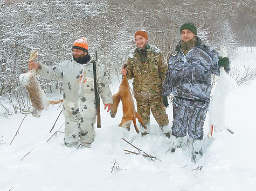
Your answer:
[[[74,42],[73,59],[49,67],[36,64],[37,74],[49,79],[63,80],[63,114],[65,116],[64,144],[73,146],[80,141],[90,146],[94,141],[96,106],[93,63],[85,38]],[[29,63],[31,64],[31,63]],[[105,108],[111,108],[112,93],[102,65],[96,63],[96,84]]]

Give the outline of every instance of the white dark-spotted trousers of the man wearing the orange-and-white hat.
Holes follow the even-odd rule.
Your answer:
[[[96,116],[93,118],[82,117],[78,113],[77,117],[74,115],[65,116],[65,135],[64,144],[72,146],[80,142],[92,143],[94,141],[94,124]]]

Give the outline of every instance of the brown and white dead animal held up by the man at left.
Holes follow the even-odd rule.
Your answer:
[[[37,56],[37,50],[33,50],[30,54],[29,61],[36,60]],[[57,101],[48,101],[46,99],[46,95],[37,81],[36,69],[29,70],[25,74],[20,75],[19,80],[29,92],[33,106],[30,110],[23,110],[24,113],[31,113],[34,117],[40,117],[41,111],[46,109],[50,104],[58,104],[63,101],[62,99]]]

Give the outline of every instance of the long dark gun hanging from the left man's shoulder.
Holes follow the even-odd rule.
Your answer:
[[[96,62],[98,62],[97,51],[95,51]],[[93,79],[94,79],[94,94],[95,94],[95,105],[97,110],[97,128],[101,128],[100,122],[100,95],[97,87],[97,76],[96,76],[96,62],[93,62]]]

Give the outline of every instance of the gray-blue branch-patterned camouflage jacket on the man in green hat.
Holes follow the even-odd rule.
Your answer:
[[[219,76],[219,55],[215,49],[201,44],[197,37],[196,46],[186,56],[181,50],[181,43],[176,47],[176,55],[171,55],[167,75],[163,83],[162,96],[172,93],[175,97],[188,100],[210,102],[211,75]],[[230,70],[230,65],[225,71]]]

